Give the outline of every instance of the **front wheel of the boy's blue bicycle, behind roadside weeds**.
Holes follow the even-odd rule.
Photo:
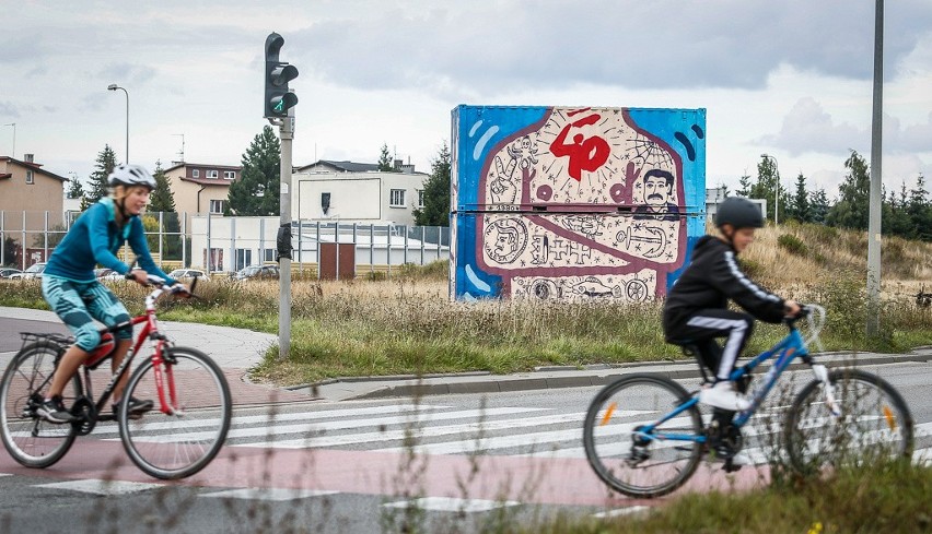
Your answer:
[[[795,471],[811,475],[910,458],[912,416],[893,385],[857,369],[831,371],[828,379],[840,415],[829,411],[818,380],[803,388],[787,414],[787,453]]]

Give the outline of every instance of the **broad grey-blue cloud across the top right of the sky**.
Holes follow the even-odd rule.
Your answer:
[[[783,62],[843,79],[866,80],[873,72],[869,2],[398,5],[291,34],[291,62],[300,59],[335,82],[364,88],[440,84],[485,94],[580,82],[764,88]],[[885,56],[896,63],[932,26],[932,5],[905,1],[890,11],[896,15],[888,17]]]

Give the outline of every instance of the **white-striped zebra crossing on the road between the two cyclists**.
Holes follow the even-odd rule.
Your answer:
[[[280,410],[280,408],[279,408]],[[610,430],[618,435],[648,423],[656,414],[630,411],[628,425]],[[584,459],[583,412],[559,413],[556,408],[529,406],[463,407],[443,404],[391,403],[351,407],[291,411],[241,411],[232,419],[226,447],[264,449],[346,449],[380,453],[490,454],[550,459]],[[761,414],[764,418],[766,415]],[[137,437],[159,443],[206,438],[200,427],[210,415],[171,427],[149,425],[148,435]],[[208,425],[212,426],[212,425]],[[776,442],[767,436],[780,431],[772,417],[743,429],[744,453],[755,464],[767,464]],[[171,431],[168,431],[171,430]],[[118,440],[115,425],[98,426],[94,436]],[[928,437],[932,423],[916,426],[918,463],[932,464]],[[660,447],[663,447],[661,444]]]

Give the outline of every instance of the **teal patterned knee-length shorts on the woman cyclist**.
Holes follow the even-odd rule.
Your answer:
[[[101,333],[94,319],[106,327],[129,321],[129,312],[105,285],[94,282],[72,282],[58,276],[42,277],[42,294],[68,330],[75,345],[91,352],[101,343]],[[119,340],[132,339],[132,327],[114,333]]]

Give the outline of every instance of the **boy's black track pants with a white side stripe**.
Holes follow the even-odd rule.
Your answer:
[[[754,318],[739,311],[704,309],[677,329],[677,339],[696,345],[699,356],[719,380],[727,380],[754,332]],[[724,337],[724,346],[715,339]]]

